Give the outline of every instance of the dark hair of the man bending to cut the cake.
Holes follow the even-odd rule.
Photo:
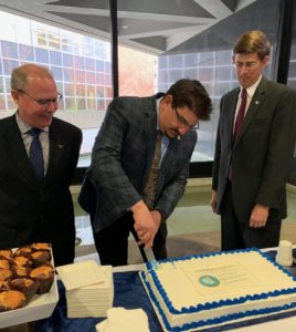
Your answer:
[[[166,92],[172,95],[175,107],[188,107],[199,120],[209,120],[212,102],[204,86],[197,80],[182,79],[173,83]]]

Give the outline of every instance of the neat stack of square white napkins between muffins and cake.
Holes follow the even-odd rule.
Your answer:
[[[87,260],[56,270],[66,289],[67,318],[107,317],[114,299],[110,266]]]

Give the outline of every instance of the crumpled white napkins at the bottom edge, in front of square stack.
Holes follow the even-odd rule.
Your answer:
[[[142,309],[112,308],[107,319],[96,324],[97,332],[149,332],[147,314]]]

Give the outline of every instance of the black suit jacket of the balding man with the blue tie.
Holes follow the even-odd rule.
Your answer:
[[[55,263],[74,259],[74,211],[70,185],[82,132],[53,118],[50,157],[43,184],[30,164],[15,115],[0,121],[0,248],[46,241]]]

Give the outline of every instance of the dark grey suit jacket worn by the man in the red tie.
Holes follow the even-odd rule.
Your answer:
[[[240,221],[249,222],[255,204],[268,206],[269,218],[285,218],[285,184],[296,136],[296,92],[262,79],[232,146],[239,92],[235,89],[221,100],[212,184],[218,190],[218,211],[232,162],[233,203]]]

